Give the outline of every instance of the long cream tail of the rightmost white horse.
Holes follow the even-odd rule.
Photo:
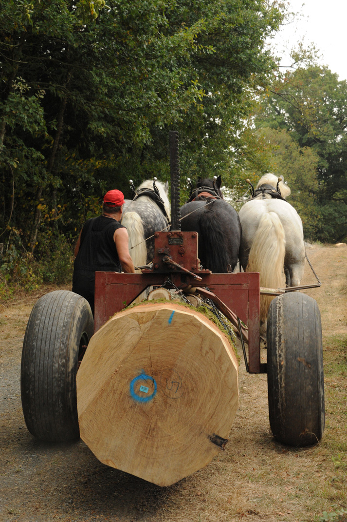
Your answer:
[[[247,272],[260,272],[260,286],[283,286],[284,254],[286,240],[282,223],[275,212],[266,212],[259,221],[250,250]],[[261,296],[261,322],[266,322],[271,296]]]

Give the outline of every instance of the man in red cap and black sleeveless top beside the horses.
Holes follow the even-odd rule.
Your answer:
[[[124,196],[118,190],[104,196],[102,216],[85,222],[75,247],[72,292],[82,295],[94,314],[95,272],[131,272],[128,232],[119,223]]]

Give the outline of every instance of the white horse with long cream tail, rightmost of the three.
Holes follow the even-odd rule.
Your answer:
[[[302,222],[294,207],[285,201],[289,195],[290,188],[283,183],[283,176],[278,179],[274,174],[265,174],[256,186],[255,197],[239,212],[240,263],[247,272],[260,272],[261,287],[283,287],[284,275],[286,285],[296,287],[304,275],[306,253]],[[272,299],[265,295],[261,298],[263,333]]]

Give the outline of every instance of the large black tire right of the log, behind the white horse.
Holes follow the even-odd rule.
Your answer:
[[[317,302],[300,292],[278,296],[267,318],[269,419],[276,439],[317,443],[325,426],[323,349]]]

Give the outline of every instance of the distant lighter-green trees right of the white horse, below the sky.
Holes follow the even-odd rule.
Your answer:
[[[346,97],[347,82],[326,67],[299,67],[278,76],[255,118],[272,156],[282,158],[278,173],[287,171],[288,184],[298,189],[293,204],[306,234],[321,241],[347,237]]]

